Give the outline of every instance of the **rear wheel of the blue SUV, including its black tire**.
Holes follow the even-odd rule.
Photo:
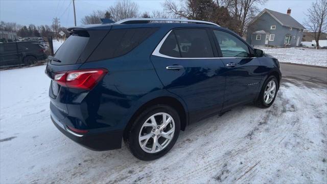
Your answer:
[[[152,122],[151,117],[153,116],[157,125]],[[162,124],[164,116],[166,116],[167,121],[169,121],[169,118],[172,119],[166,126]],[[179,131],[180,118],[177,111],[168,105],[159,104],[146,109],[137,116],[124,141],[136,158],[154,160],[165,155],[175,145]],[[148,138],[145,139],[144,137]],[[158,144],[155,144],[155,140]],[[141,147],[141,145],[144,145],[144,147]]]

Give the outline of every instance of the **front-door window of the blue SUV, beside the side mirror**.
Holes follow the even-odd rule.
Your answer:
[[[249,48],[236,36],[214,30],[223,57],[249,57]]]

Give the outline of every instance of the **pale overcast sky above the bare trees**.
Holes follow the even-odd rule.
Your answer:
[[[77,25],[81,24],[81,19],[94,10],[105,10],[115,1],[85,1],[75,0]],[[139,12],[162,11],[161,0],[137,0]],[[177,3],[179,0],[177,0]],[[261,9],[267,8],[281,13],[286,13],[288,8],[292,9],[291,16],[302,23],[305,13],[311,0],[269,0]],[[74,25],[72,0],[46,0],[46,1],[26,1],[26,0],[0,0],[0,20],[6,22],[17,22],[20,25],[51,25],[54,17],[60,18],[61,25],[65,27]]]

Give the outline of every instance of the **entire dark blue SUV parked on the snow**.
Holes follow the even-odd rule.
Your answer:
[[[63,134],[98,151],[123,139],[134,156],[152,160],[190,123],[241,104],[272,105],[277,59],[212,22],[155,20],[68,29],[45,70],[51,119]]]

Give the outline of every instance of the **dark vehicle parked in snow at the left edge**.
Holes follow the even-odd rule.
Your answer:
[[[46,59],[44,48],[37,42],[22,41],[0,44],[0,67],[30,65]]]

